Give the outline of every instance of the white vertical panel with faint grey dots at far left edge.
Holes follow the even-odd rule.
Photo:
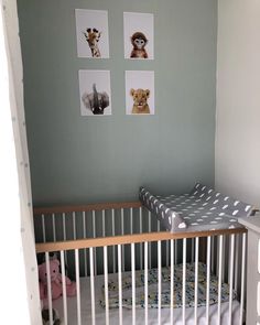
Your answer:
[[[1,324],[42,324],[17,0],[0,0]],[[11,321],[10,321],[11,319]]]

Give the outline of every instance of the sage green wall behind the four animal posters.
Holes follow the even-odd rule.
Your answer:
[[[18,0],[35,205],[214,183],[217,0]],[[78,58],[75,8],[108,10],[109,59]],[[123,58],[123,11],[154,13],[155,59]],[[112,116],[80,117],[78,69],[110,69]],[[155,116],[126,116],[124,71],[155,73]]]

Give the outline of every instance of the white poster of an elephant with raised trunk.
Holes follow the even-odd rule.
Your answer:
[[[79,71],[82,116],[111,115],[111,88],[109,71]]]

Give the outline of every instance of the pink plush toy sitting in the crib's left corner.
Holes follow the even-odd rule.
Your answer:
[[[59,261],[57,259],[50,260],[50,274],[52,286],[52,299],[58,299],[63,294],[62,274],[58,270]],[[47,297],[47,271],[46,263],[39,266],[39,279],[40,279],[40,297],[41,300]],[[65,277],[66,293],[67,296],[76,295],[76,283],[72,282]]]

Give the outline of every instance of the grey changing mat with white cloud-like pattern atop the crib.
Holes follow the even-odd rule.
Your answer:
[[[175,231],[203,231],[242,228],[239,217],[252,214],[253,207],[197,183],[191,193],[159,196],[140,188],[141,203],[165,227]]]

